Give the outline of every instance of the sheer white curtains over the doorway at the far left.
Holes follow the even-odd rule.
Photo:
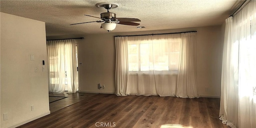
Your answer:
[[[48,82],[50,93],[68,93],[78,90],[78,73],[75,39],[47,41]]]

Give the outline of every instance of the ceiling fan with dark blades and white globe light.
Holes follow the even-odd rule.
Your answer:
[[[137,18],[116,18],[116,14],[109,12],[110,9],[117,8],[119,6],[119,4],[117,3],[102,2],[102,3],[96,4],[96,6],[99,8],[105,8],[107,12],[100,14],[101,20],[93,21],[93,22],[97,22],[97,23],[104,22],[103,24],[101,24],[100,28],[103,28],[108,32],[114,30],[116,28],[116,24],[123,24],[128,26],[140,25],[138,23],[135,23],[135,22],[140,22],[140,20]],[[84,15],[84,16],[90,16],[90,15]],[[90,17],[98,18],[95,16],[90,16]],[[85,24],[85,23],[92,23],[92,22],[83,22],[83,23],[77,23],[77,24]],[[70,24],[70,25],[75,25],[75,24]]]

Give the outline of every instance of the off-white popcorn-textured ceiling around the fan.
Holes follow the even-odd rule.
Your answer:
[[[101,23],[70,24],[99,20],[106,12],[95,5],[115,2],[120,6],[111,9],[117,18],[138,18],[140,26],[117,24],[116,32],[169,30],[214,26],[224,23],[243,1],[236,0],[0,0],[0,11],[39,20],[46,23],[47,36],[85,35],[107,33]]]

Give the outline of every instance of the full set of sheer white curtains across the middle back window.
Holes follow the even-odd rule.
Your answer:
[[[194,36],[194,33],[192,36]],[[182,37],[184,39],[182,39]],[[193,45],[191,49],[195,47],[194,37],[192,37],[192,39],[189,37],[190,35],[181,34],[115,37],[116,95],[150,96],[156,93],[160,96],[176,96],[178,73],[182,72],[182,74],[186,76],[182,75],[182,77],[180,77],[181,81],[189,80],[186,83],[194,83],[180,83],[179,86],[181,90],[178,92],[180,95],[177,96],[190,98],[198,97],[195,76],[187,77],[193,74],[191,72],[195,71],[195,67],[186,72],[186,69],[190,68],[189,66],[195,65],[187,64],[188,61],[182,61],[181,64],[179,63],[181,54],[180,44],[191,43],[191,45]],[[187,47],[190,47],[190,45]],[[184,49],[182,52],[189,54],[188,52],[190,51]],[[194,52],[194,50],[192,50],[192,52]],[[194,54],[191,56],[193,55]],[[191,56],[185,55],[184,57]],[[189,59],[189,63],[191,63],[190,60],[193,60],[194,63],[194,57]],[[180,68],[179,64],[185,64],[186,68],[184,68],[184,66]],[[190,79],[194,79],[194,81]],[[186,89],[182,90],[182,88]]]

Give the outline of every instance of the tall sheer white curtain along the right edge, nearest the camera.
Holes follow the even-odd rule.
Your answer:
[[[256,1],[226,19],[220,120],[231,128],[256,128]]]

